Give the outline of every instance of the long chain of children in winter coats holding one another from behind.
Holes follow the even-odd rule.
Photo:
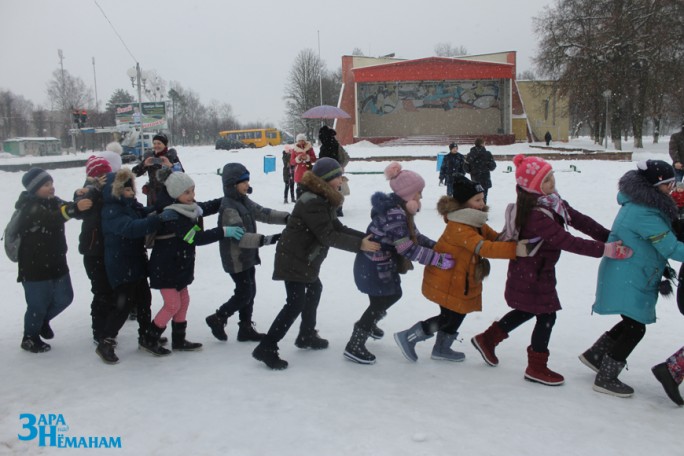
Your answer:
[[[299,138],[298,138],[299,139]],[[50,350],[50,321],[73,300],[66,263],[64,223],[83,220],[79,251],[91,280],[93,337],[96,353],[115,364],[116,337],[128,313],[135,309],[138,344],[157,356],[171,353],[162,333],[171,323],[171,348],[194,351],[201,344],[186,339],[186,315],[193,282],[195,247],[219,243],[223,268],[235,282],[233,296],[206,318],[212,334],[227,340],[225,325],[239,314],[239,341],[255,341],[252,356],[271,369],[285,369],[278,342],[301,315],[295,345],[302,349],[328,347],[316,329],[321,298],[319,270],[330,247],[354,252],[354,280],[368,295],[368,308],[354,324],[344,356],[373,364],[368,338],[380,339],[378,322],[402,297],[401,274],[424,265],[422,292],[438,304],[439,312],[394,334],[404,356],[415,362],[418,342],[436,334],[432,358],[459,362],[465,355],[451,348],[470,312],[482,309],[483,279],[488,259],[507,259],[504,298],[511,311],[471,342],[490,366],[497,366],[498,344],[523,323],[534,319],[524,377],[545,385],[561,385],[563,376],[548,367],[549,341],[556,312],[555,265],[562,251],[601,258],[593,311],[618,315],[619,323],[602,334],[580,360],[596,372],[593,389],[618,397],[634,390],[618,376],[627,357],[655,322],[660,278],[669,258],[684,262],[684,243],[677,239],[678,208],[672,166],[658,160],[639,162],[619,181],[620,209],[610,230],[563,200],[555,188],[551,165],[538,157],[518,155],[517,201],[506,211],[506,227],[497,233],[487,225],[485,189],[465,176],[449,182],[449,195],[437,209],[445,229],[435,242],[421,234],[415,222],[421,206],[423,178],[393,162],[385,169],[390,193],[371,197],[371,222],[365,232],[343,225],[337,216],[344,197],[339,192],[343,168],[333,158],[311,161],[299,179],[299,196],[291,213],[260,206],[249,197],[249,171],[240,163],[223,168],[224,196],[195,201],[195,184],[182,171],[168,140],[154,138],[154,153],[133,170],[105,154],[88,159],[85,186],[74,202],[55,196],[52,177],[32,168],[22,178],[26,190],[16,203],[20,211],[21,244],[18,281],[27,310],[21,347],[32,353]],[[308,150],[310,147],[304,147]],[[314,155],[315,157],[315,155]],[[135,172],[134,172],[135,171]],[[136,200],[135,174],[149,173],[148,206]],[[676,192],[675,192],[676,193]],[[674,193],[673,193],[674,194]],[[203,216],[218,214],[215,228],[203,226]],[[257,233],[256,222],[284,225],[281,234]],[[572,235],[571,226],[591,238]],[[148,261],[146,253],[152,244]],[[151,242],[152,241],[152,242]],[[266,334],[252,323],[256,295],[255,267],[259,248],[276,245],[273,279],[285,283],[286,301]],[[149,282],[148,282],[149,279]],[[163,306],[152,318],[150,287],[159,289]],[[679,294],[679,293],[678,293]],[[679,307],[684,313],[684,299]],[[653,373],[668,397],[684,401],[678,386],[684,376],[684,347]]]

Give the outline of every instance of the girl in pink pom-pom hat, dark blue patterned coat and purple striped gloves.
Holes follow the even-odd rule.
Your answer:
[[[411,261],[442,269],[454,265],[449,254],[433,250],[435,241],[420,234],[415,225],[414,217],[420,210],[425,188],[423,178],[403,170],[397,162],[385,168],[385,177],[393,193],[377,192],[371,197],[371,223],[366,229],[366,234],[379,242],[381,248],[377,252],[359,252],[354,261],[354,281],[359,291],[368,295],[370,304],[354,324],[344,356],[359,364],[375,363],[375,355],[366,349],[366,340],[384,335],[377,322],[401,299],[399,274],[412,266]]]

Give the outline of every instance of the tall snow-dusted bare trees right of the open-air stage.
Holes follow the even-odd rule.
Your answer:
[[[621,134],[632,131],[640,147],[649,104],[653,112],[661,109],[654,88],[681,87],[655,81],[667,61],[682,60],[683,24],[681,0],[560,0],[535,18],[541,39],[535,62],[558,80],[597,142],[608,112],[614,146],[621,149]]]

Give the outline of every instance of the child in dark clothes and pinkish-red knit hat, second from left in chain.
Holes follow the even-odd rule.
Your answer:
[[[91,210],[83,214],[81,234],[78,238],[78,251],[83,255],[83,267],[90,279],[90,291],[93,300],[90,304],[93,340],[99,343],[107,315],[114,306],[114,291],[107,279],[104,259],[104,238],[102,237],[102,188],[107,174],[112,171],[110,163],[97,156],[90,156],[86,160],[86,191],[77,194],[74,201],[89,199],[93,202]]]

